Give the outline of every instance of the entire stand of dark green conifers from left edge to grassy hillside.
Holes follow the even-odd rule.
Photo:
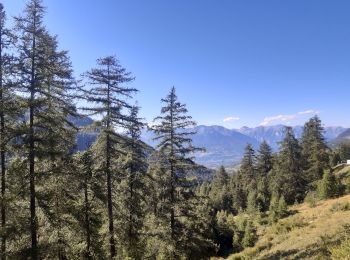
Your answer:
[[[221,167],[202,181],[195,122],[175,88],[161,100],[151,148],[130,103],[134,76],[107,56],[74,78],[44,15],[42,1],[29,0],[8,28],[0,5],[1,259],[206,259],[252,246],[257,215],[273,223],[287,205],[349,192],[333,167],[350,147],[327,147],[317,116],[300,140],[287,127],[278,153],[248,144],[238,172]],[[99,120],[77,127],[87,116]],[[77,134],[96,129],[76,152]]]

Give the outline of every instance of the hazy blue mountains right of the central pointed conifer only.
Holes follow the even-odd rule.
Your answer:
[[[206,148],[206,152],[196,154],[197,162],[207,167],[216,168],[220,165],[232,167],[243,157],[245,146],[250,143],[255,149],[266,140],[274,151],[278,151],[279,142],[284,137],[284,125],[258,126],[255,128],[227,129],[222,126],[197,126],[193,142],[196,146]],[[302,126],[293,127],[297,138],[303,133]],[[345,131],[343,127],[325,127],[325,138],[333,140]]]

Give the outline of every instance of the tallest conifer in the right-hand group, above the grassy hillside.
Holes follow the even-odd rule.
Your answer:
[[[312,183],[322,178],[329,168],[328,147],[323,136],[324,128],[318,116],[305,123],[301,140],[302,157],[307,181]]]

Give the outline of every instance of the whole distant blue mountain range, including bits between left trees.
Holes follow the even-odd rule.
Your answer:
[[[93,123],[92,119],[74,119],[72,122],[84,127]],[[206,149],[205,152],[196,154],[196,162],[209,168],[217,168],[220,165],[233,167],[242,159],[247,143],[258,149],[259,144],[265,140],[274,151],[278,151],[279,142],[284,136],[284,125],[258,126],[254,128],[242,127],[240,129],[227,129],[222,126],[199,125],[192,136],[193,144]],[[300,138],[303,132],[302,126],[293,127],[295,136]],[[98,132],[79,133],[77,137],[78,150],[85,150],[96,139]],[[350,129],[344,127],[325,127],[324,136],[331,146],[340,143],[350,143]],[[154,133],[144,130],[141,135],[143,142],[155,147]]]

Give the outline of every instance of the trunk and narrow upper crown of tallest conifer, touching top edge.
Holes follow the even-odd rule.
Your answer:
[[[29,163],[29,192],[30,192],[30,233],[31,256],[38,259],[38,224],[36,215],[35,191],[35,113],[40,110],[41,102],[38,92],[41,87],[38,68],[45,63],[37,43],[43,38],[45,28],[43,25],[44,7],[39,0],[30,1],[25,8],[23,17],[16,17],[16,29],[19,34],[19,76],[21,91],[25,95],[29,109],[29,126],[25,131],[25,141],[28,149]]]

